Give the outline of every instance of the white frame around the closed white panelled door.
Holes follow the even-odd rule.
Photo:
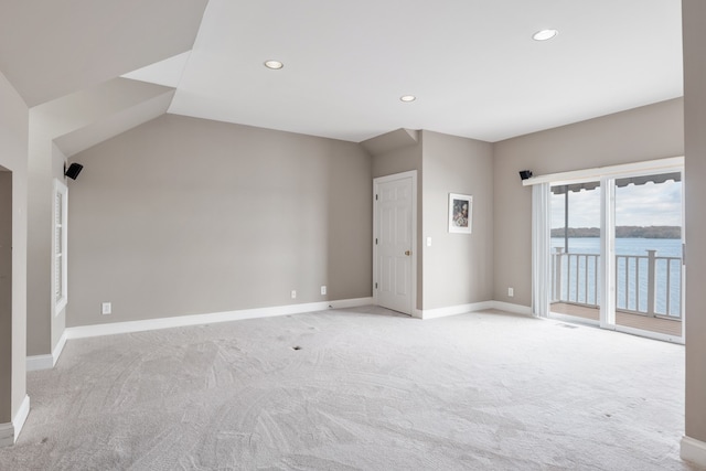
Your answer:
[[[377,204],[378,188],[383,183],[389,183],[398,180],[411,179],[411,264],[409,279],[411,280],[411,289],[409,291],[409,312],[405,314],[420,318],[420,311],[417,309],[417,260],[420,254],[418,254],[417,246],[417,171],[409,170],[407,172],[394,173],[391,175],[378,176],[373,179],[373,302],[375,306],[379,306],[377,302],[377,244],[376,239],[379,238],[379,227],[377,218],[379,216],[379,208]]]

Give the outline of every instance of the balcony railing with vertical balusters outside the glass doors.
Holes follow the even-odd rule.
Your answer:
[[[597,308],[600,304],[600,255],[552,254],[552,302]],[[616,255],[616,309],[622,312],[680,320],[682,258]]]

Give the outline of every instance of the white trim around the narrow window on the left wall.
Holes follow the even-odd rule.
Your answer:
[[[60,214],[56,212],[56,196],[62,196],[62,221],[57,221]],[[67,269],[67,245],[68,245],[68,188],[60,180],[54,180],[54,193],[52,195],[52,297],[54,298],[54,315],[58,315],[68,303],[68,269]],[[56,227],[61,226],[61,247],[56,247]],[[61,261],[58,257],[61,256]],[[58,266],[61,265],[61,266]],[[61,269],[62,292],[57,295],[56,270]]]

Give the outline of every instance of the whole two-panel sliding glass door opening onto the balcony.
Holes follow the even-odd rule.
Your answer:
[[[682,169],[565,180],[549,193],[549,317],[682,343]]]

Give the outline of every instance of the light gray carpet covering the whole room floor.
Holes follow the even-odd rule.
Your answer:
[[[2,470],[696,469],[683,346],[496,312],[75,340],[28,382]]]

